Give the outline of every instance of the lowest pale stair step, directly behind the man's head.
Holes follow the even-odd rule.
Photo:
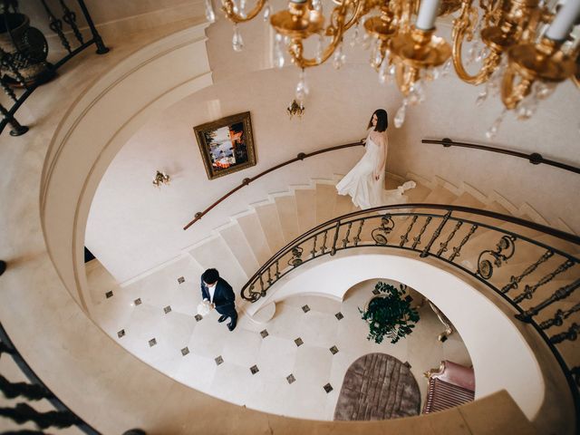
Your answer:
[[[224,279],[237,291],[247,282],[248,275],[237,261],[236,256],[221,237],[212,237],[205,243],[189,249],[192,256],[202,268],[216,268]]]

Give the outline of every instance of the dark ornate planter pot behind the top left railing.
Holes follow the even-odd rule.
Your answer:
[[[20,85],[17,73],[20,73],[26,86],[38,85],[53,78],[53,65],[46,62],[46,38],[42,32],[30,26],[26,15],[0,14],[0,48],[12,58],[11,64],[0,64],[4,82]]]

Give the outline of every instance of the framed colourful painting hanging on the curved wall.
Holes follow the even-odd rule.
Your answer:
[[[237,113],[193,128],[208,179],[256,165],[250,112]]]

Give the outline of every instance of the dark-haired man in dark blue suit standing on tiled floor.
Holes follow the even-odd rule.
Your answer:
[[[233,331],[236,328],[236,295],[232,286],[219,277],[218,270],[208,269],[201,274],[201,297],[204,301],[214,304],[218,313],[221,314],[218,319],[219,323],[230,317],[232,320],[227,324],[227,329]]]

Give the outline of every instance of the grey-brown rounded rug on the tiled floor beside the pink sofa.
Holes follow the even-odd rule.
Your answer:
[[[386,353],[367,353],[344,375],[334,420],[397,419],[419,410],[419,385],[409,367]]]

